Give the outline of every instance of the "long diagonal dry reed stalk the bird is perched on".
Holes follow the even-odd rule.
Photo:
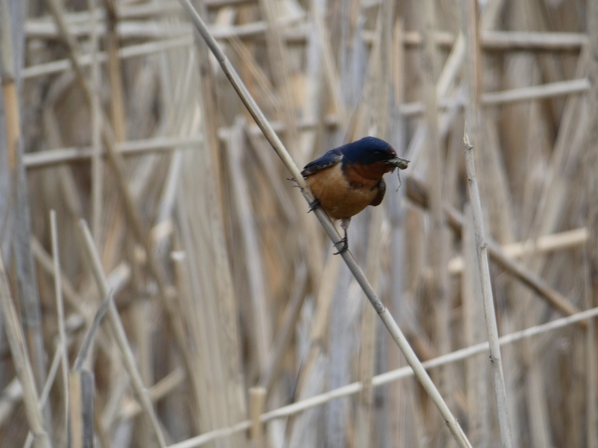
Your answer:
[[[276,135],[276,133],[274,133],[274,130],[271,128],[266,116],[263,114],[255,100],[245,87],[245,84],[243,84],[243,81],[240,79],[233,65],[230,63],[222,49],[219,47],[216,40],[210,34],[208,27],[203,22],[202,17],[199,16],[199,14],[197,13],[193,5],[191,5],[191,2],[189,0],[179,0],[179,2],[181,3],[184,10],[187,11],[188,16],[190,17],[194,26],[197,28],[200,35],[202,35],[202,38],[205,40],[213,55],[216,57],[216,60],[218,60],[218,63],[222,67],[222,70],[224,70],[225,75],[233,85],[234,89],[236,90],[242,102],[245,104],[249,113],[251,113],[251,115],[255,119],[255,122],[261,128],[262,132],[264,133],[264,136],[270,142],[270,145],[273,147],[276,154],[280,157],[280,159],[282,159],[286,168],[289,171],[291,171],[291,175],[294,177],[295,182],[297,182],[297,185],[301,189],[303,197],[307,200],[307,202],[313,202],[314,197],[310,192],[309,187],[305,182],[305,179],[303,179],[303,176],[301,176],[301,171],[299,171],[299,168],[291,158],[291,155],[289,155],[288,151],[286,151],[286,148],[283,146],[279,137]],[[324,227],[325,231],[327,232],[328,237],[335,244],[337,249],[340,250],[343,243],[339,241],[340,235],[338,235],[338,232],[328,219],[327,214],[324,213],[324,210],[322,210],[322,208],[316,208],[314,211],[316,216],[318,217],[318,220],[322,224],[322,227]],[[382,319],[386,328],[389,330],[392,339],[396,342],[396,345],[399,346],[399,349],[401,349],[402,353],[405,355],[405,358],[407,359],[407,362],[413,369],[413,372],[415,373],[417,379],[422,384],[426,392],[428,392],[430,398],[432,399],[435,406],[443,416],[444,421],[446,422],[447,426],[449,426],[449,429],[459,446],[471,447],[471,444],[469,443],[468,438],[463,432],[463,429],[459,425],[459,422],[457,422],[457,419],[450,412],[449,407],[445,403],[443,397],[440,395],[440,392],[438,392],[438,389],[434,385],[434,382],[432,382],[428,373],[423,368],[422,363],[417,358],[417,355],[409,345],[407,339],[401,332],[401,329],[399,329],[398,325],[396,324],[396,321],[394,320],[386,306],[379,299],[376,292],[371,287],[361,268],[359,268],[358,264],[355,262],[353,255],[350,253],[350,251],[347,250],[341,253],[341,256],[343,257],[344,262],[347,264],[349,270],[352,272],[353,277],[355,277],[355,280],[357,280],[357,282],[359,283],[359,286],[361,286],[362,290],[364,290],[364,293],[370,300],[372,306],[380,315],[380,318]]]

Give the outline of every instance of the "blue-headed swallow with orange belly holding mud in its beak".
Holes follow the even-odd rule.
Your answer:
[[[395,168],[404,170],[409,161],[397,157],[389,143],[377,137],[363,137],[331,149],[309,162],[301,171],[314,200],[309,211],[321,207],[331,219],[340,220],[344,236],[338,252],[349,248],[347,229],[351,217],[368,205],[380,205],[386,192],[383,176]]]

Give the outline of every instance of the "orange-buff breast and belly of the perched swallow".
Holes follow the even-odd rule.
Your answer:
[[[347,166],[343,173],[337,164],[307,176],[307,185],[332,219],[358,214],[376,198],[383,173],[377,179],[367,179],[358,171]]]

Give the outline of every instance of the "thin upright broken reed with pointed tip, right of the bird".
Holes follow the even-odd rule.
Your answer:
[[[501,348],[498,343],[498,326],[496,325],[492,284],[490,283],[488,248],[486,240],[484,240],[486,236],[484,232],[480,191],[475,177],[474,152],[473,147],[469,143],[467,131],[465,131],[463,140],[465,142],[465,166],[467,170],[469,201],[471,202],[474,214],[475,248],[478,255],[478,269],[480,271],[482,297],[484,300],[484,315],[486,316],[486,330],[490,347],[490,364],[494,378],[496,407],[498,410],[499,425],[501,427],[502,444],[504,447],[510,447],[512,440],[511,425],[509,424],[507,392],[505,390],[505,379],[502,372]]]

